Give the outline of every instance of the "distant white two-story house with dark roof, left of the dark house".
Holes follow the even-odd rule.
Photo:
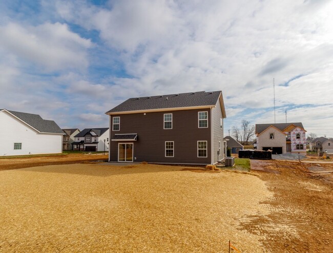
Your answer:
[[[86,128],[74,137],[72,150],[109,152],[109,128]]]

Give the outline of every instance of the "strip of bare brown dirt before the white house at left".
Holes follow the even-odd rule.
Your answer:
[[[0,171],[12,170],[14,168],[27,168],[52,164],[71,164],[84,161],[107,160],[108,155],[102,153],[92,154],[68,154],[53,156],[33,156],[24,158],[2,158],[0,159]]]

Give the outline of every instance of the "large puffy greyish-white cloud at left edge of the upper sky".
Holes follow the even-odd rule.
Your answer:
[[[92,47],[90,39],[71,32],[66,24],[45,23],[23,26],[9,23],[0,26],[0,48],[46,70],[86,68],[89,64],[86,50]]]

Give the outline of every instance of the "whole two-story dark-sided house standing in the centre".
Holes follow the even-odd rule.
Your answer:
[[[224,158],[221,91],[135,97],[106,114],[109,161],[216,164]]]

